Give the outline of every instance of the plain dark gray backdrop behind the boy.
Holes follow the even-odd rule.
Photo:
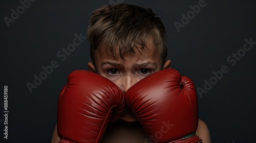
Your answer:
[[[115,1],[116,2],[116,1]],[[209,127],[212,142],[253,142],[255,136],[256,44],[236,65],[228,56],[243,48],[244,39],[256,41],[254,1],[205,0],[206,6],[178,32],[174,22],[198,1],[128,1],[150,7],[162,18],[168,35],[168,59],[172,67],[204,88],[212,71],[229,69],[207,92],[198,97],[199,117]],[[0,137],[5,142],[50,142],[56,124],[56,106],[67,76],[75,69],[88,69],[89,42],[76,47],[66,60],[56,53],[73,42],[74,34],[85,35],[89,16],[105,1],[35,1],[10,23],[11,9],[19,1],[1,1],[1,89]],[[42,66],[56,60],[52,74],[30,93]],[[8,140],[3,135],[4,85],[8,85]],[[0,141],[2,142],[2,141]]]

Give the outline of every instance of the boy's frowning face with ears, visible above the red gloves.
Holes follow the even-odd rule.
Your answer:
[[[133,84],[163,68],[170,67],[170,60],[162,66],[162,58],[152,40],[146,42],[147,49],[134,49],[136,54],[127,53],[122,58],[97,51],[95,63],[88,63],[89,68],[117,84],[125,93]]]

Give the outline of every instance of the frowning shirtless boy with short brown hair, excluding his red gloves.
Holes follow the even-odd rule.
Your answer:
[[[125,93],[133,84],[161,69],[170,68],[166,60],[166,31],[151,9],[134,5],[104,6],[93,12],[88,28],[91,42],[91,71],[113,81]],[[199,120],[196,134],[210,142],[206,124]],[[110,123],[101,142],[144,142],[142,126],[129,112]],[[57,142],[55,131],[52,142]]]

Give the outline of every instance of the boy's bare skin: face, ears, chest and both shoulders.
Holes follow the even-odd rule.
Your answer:
[[[171,66],[170,60],[166,60],[162,64],[161,56],[152,40],[148,40],[146,45],[148,49],[139,49],[139,51],[135,49],[136,54],[125,54],[125,60],[122,60],[120,57],[115,59],[99,50],[95,57],[95,64],[89,62],[88,66],[91,71],[113,81],[125,93],[133,84],[146,76]],[[132,114],[126,112],[121,117],[121,121],[121,125],[112,125],[111,128],[105,131],[101,142],[115,143],[124,142],[125,140],[127,142],[144,142],[146,135]],[[55,127],[52,142],[58,142],[59,140],[56,129],[57,127]],[[202,120],[199,120],[196,134],[204,143],[210,142],[208,127]]]

